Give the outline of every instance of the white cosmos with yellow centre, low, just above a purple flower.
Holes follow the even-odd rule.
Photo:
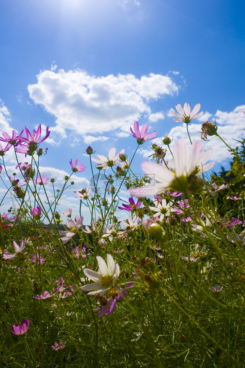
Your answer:
[[[89,280],[95,281],[95,284],[87,284],[81,286],[80,289],[83,291],[90,291],[88,295],[100,294],[105,295],[105,293],[115,285],[116,280],[119,276],[119,265],[114,261],[111,254],[107,254],[107,263],[101,256],[97,256],[97,262],[99,266],[98,272],[90,270],[89,268],[84,268],[84,275],[87,276]]]

